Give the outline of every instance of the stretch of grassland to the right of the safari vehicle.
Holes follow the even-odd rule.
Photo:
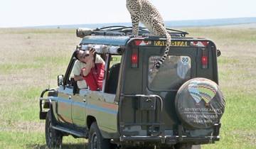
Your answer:
[[[192,35],[215,41],[219,82],[225,94],[220,141],[203,148],[256,148],[256,38],[250,28],[188,28]]]

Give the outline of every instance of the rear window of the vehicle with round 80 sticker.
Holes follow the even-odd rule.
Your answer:
[[[177,90],[191,78],[191,57],[169,55],[159,70],[156,70],[154,63],[160,58],[160,56],[149,57],[148,87],[150,90]]]

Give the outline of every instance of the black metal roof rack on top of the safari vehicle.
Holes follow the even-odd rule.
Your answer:
[[[171,28],[166,28],[166,30],[172,37],[186,37],[186,35],[188,35],[188,33],[185,31],[174,30]],[[106,27],[96,28],[94,30],[91,30],[90,34],[113,35],[113,36],[132,35],[132,26],[106,26]],[[149,35],[150,35],[150,32],[147,28],[139,26],[139,36],[148,37]]]

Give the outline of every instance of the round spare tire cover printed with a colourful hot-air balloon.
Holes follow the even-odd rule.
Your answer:
[[[176,94],[175,108],[183,123],[193,128],[210,128],[220,121],[225,100],[218,84],[205,78],[185,82]]]

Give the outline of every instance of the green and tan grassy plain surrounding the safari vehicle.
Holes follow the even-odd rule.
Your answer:
[[[207,148],[256,148],[256,27],[182,28],[212,39],[226,108],[220,141]],[[38,97],[56,87],[75,45],[75,29],[0,29],[0,148],[46,148]],[[63,148],[87,148],[87,140],[64,137]]]

